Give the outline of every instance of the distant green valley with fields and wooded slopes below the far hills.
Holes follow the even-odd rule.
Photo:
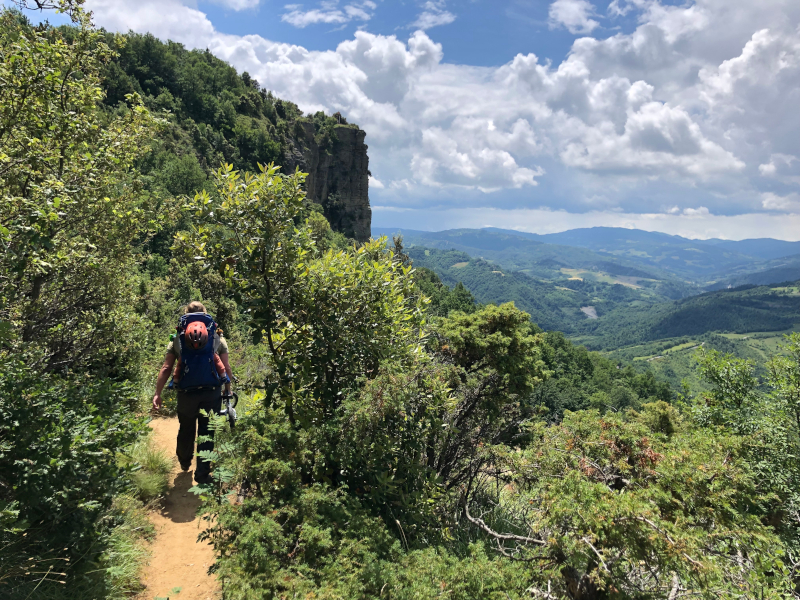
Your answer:
[[[545,330],[562,331],[575,344],[637,372],[651,372],[674,390],[683,381],[704,388],[696,360],[701,348],[752,360],[763,378],[785,335],[800,326],[800,283],[748,285],[671,300],[654,291],[659,288],[647,287],[646,280],[632,284],[561,262],[548,263],[548,279],[537,279],[458,250],[415,246],[408,254],[448,285],[463,284],[478,302],[513,301]]]

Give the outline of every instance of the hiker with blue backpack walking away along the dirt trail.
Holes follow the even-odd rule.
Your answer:
[[[231,393],[231,365],[228,361],[228,344],[218,329],[214,319],[206,312],[200,302],[190,302],[181,318],[176,335],[167,346],[164,364],[156,381],[153,407],[161,408],[161,392],[169,380],[176,361],[180,371],[176,372],[173,383],[178,395],[178,444],[176,454],[181,469],[188,471],[194,456],[195,433],[199,436],[213,436],[208,428],[208,417],[201,410],[219,414],[222,410],[222,388],[225,395]],[[224,377],[217,371],[221,362]],[[198,444],[198,453],[213,450],[214,442]],[[211,478],[211,465],[197,457],[194,479],[197,483],[208,483]]]

